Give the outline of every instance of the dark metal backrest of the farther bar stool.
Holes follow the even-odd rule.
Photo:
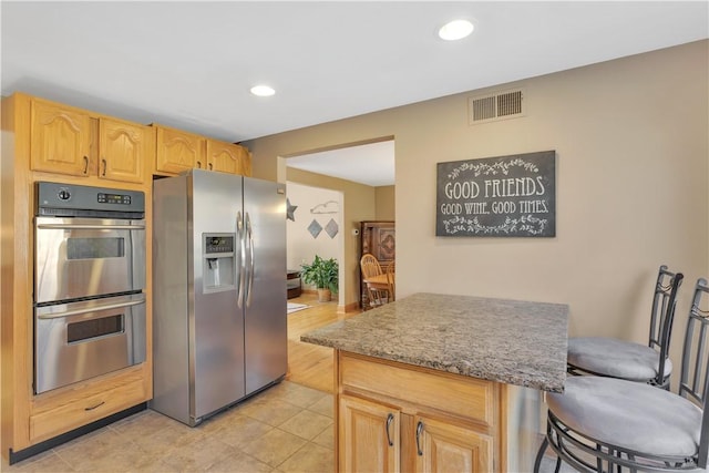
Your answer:
[[[650,315],[650,337],[648,346],[659,351],[659,366],[657,377],[653,384],[666,387],[669,380],[665,379],[665,363],[669,357],[669,343],[672,335],[672,322],[677,306],[677,292],[685,276],[681,273],[671,273],[667,266],[660,266],[653,297],[653,313]]]

